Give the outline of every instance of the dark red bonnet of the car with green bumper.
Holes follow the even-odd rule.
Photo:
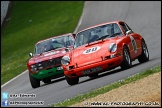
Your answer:
[[[70,48],[71,50],[72,48]],[[29,60],[29,64],[35,64],[38,62],[42,62],[42,61],[46,61],[49,59],[53,59],[53,58],[58,58],[58,57],[62,57],[66,54],[65,48],[59,48],[56,50],[51,50],[42,54],[38,54],[33,56],[30,60]]]

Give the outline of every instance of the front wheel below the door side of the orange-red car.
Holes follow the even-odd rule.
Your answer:
[[[123,50],[123,62],[121,64],[121,68],[124,70],[124,69],[128,69],[130,67],[132,67],[132,61],[130,58],[129,50],[125,46],[124,50]]]

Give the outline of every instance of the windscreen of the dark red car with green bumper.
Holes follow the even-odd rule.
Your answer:
[[[50,38],[35,45],[34,55],[55,50],[58,48],[72,46],[73,44],[74,40],[70,35]]]

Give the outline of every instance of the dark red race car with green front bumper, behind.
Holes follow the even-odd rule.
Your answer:
[[[64,76],[61,58],[73,49],[74,34],[55,36],[36,43],[34,55],[28,63],[30,83],[33,88],[40,86],[40,81],[50,83],[51,79]]]

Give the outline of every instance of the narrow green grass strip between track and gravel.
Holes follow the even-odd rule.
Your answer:
[[[120,87],[122,85],[134,82],[136,80],[139,80],[141,78],[144,78],[146,76],[149,76],[151,74],[154,74],[154,73],[157,73],[157,72],[160,72],[160,71],[161,71],[161,66],[156,66],[156,67],[154,67],[152,69],[149,69],[149,70],[143,71],[141,73],[135,74],[133,76],[130,76],[127,79],[111,83],[111,84],[109,84],[107,86],[104,86],[104,87],[101,87],[99,89],[93,90],[93,91],[88,92],[86,94],[80,94],[80,95],[75,96],[75,97],[73,97],[71,99],[66,99],[63,102],[55,103],[55,104],[51,105],[50,107],[67,107],[67,106],[73,105],[75,103],[82,102],[85,99],[92,98],[92,97],[95,97],[95,96],[97,96],[99,94],[106,93],[106,92],[108,92],[108,91],[110,91],[112,89],[116,89],[116,88],[118,88],[118,87]]]

